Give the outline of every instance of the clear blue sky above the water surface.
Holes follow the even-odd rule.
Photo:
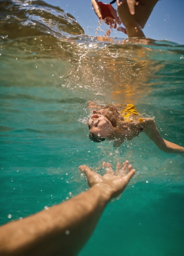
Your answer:
[[[45,2],[59,6],[61,9],[73,15],[84,29],[86,35],[95,36],[98,25],[98,17],[94,13],[90,0],[44,0]],[[102,1],[102,0],[101,0]],[[104,3],[108,1],[103,0]],[[116,9],[116,3],[113,4]],[[109,26],[107,26],[109,27]],[[103,26],[106,30],[106,24]],[[143,32],[146,37],[155,40],[169,40],[184,44],[184,1],[161,0],[154,7]],[[99,32],[98,35],[104,35]],[[111,37],[128,38],[122,32],[114,29]]]

